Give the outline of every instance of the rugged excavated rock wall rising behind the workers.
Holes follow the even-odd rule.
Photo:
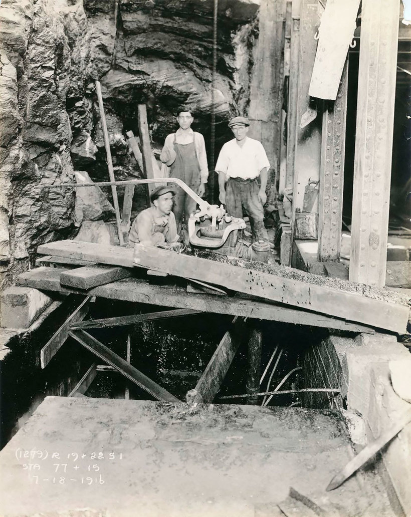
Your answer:
[[[3,0],[0,7],[0,273],[9,283],[41,242],[73,237],[74,170],[108,179],[95,94],[102,86],[116,179],[140,176],[126,131],[147,105],[159,149],[188,104],[216,149],[245,113],[259,0],[220,0],[211,83],[213,0]],[[140,189],[141,190],[141,189]],[[134,209],[144,196],[137,190]],[[109,194],[109,190],[105,191]],[[110,195],[110,194],[109,194]],[[121,189],[119,190],[121,206]],[[141,198],[141,199],[140,199]],[[109,214],[103,210],[103,218]],[[0,288],[2,280],[0,280]]]

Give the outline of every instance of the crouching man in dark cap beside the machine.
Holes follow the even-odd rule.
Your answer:
[[[157,187],[150,199],[154,206],[146,208],[134,219],[128,236],[128,246],[136,243],[146,246],[181,251],[176,220],[172,212],[175,192],[167,186]]]

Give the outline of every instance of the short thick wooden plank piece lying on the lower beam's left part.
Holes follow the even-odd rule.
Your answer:
[[[108,284],[131,276],[132,270],[124,267],[85,266],[62,273],[60,284],[87,290],[97,285]]]

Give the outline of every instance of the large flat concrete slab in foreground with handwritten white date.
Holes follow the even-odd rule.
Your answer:
[[[0,453],[0,514],[269,517],[290,486],[318,501],[352,455],[334,412],[48,397]],[[370,471],[327,494],[392,516]]]

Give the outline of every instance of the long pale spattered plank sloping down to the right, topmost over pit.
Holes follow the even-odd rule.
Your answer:
[[[240,293],[251,292],[264,299],[394,332],[405,332],[408,322],[408,307],[405,305],[349,292],[351,285],[348,283],[347,291],[342,291],[328,285],[318,285],[318,277],[313,278],[316,283],[309,283],[141,244],[134,248],[134,260],[138,265],[159,269],[170,275],[222,285]],[[311,278],[310,273],[300,274],[308,281]]]

